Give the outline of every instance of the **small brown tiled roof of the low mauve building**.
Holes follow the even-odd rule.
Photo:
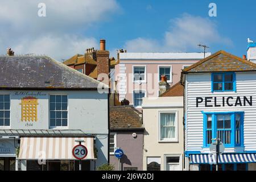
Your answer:
[[[132,106],[110,107],[110,130],[115,129],[143,129],[142,113]]]

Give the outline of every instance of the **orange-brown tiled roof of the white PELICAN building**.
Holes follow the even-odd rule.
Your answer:
[[[230,71],[256,71],[256,64],[221,50],[183,69],[183,73]]]

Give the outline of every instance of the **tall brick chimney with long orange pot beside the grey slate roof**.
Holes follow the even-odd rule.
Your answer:
[[[110,61],[109,61],[109,51],[105,50],[105,40],[100,40],[100,50],[96,52],[96,61],[97,61],[97,72],[98,75],[101,73],[105,73],[109,77],[109,68],[110,68]],[[101,76],[102,77],[102,76]],[[98,79],[103,81],[102,78]]]

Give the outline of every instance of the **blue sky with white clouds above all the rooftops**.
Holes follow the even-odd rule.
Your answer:
[[[26,2],[26,3],[24,3]],[[46,4],[46,17],[37,5]],[[217,17],[208,15],[209,3]],[[112,56],[129,52],[209,52],[246,54],[247,38],[256,40],[256,2],[185,0],[7,1],[0,2],[0,53],[47,54],[68,59],[106,39]]]

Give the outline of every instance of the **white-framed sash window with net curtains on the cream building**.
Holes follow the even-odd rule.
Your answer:
[[[177,121],[175,113],[160,113],[160,141],[177,140]]]

